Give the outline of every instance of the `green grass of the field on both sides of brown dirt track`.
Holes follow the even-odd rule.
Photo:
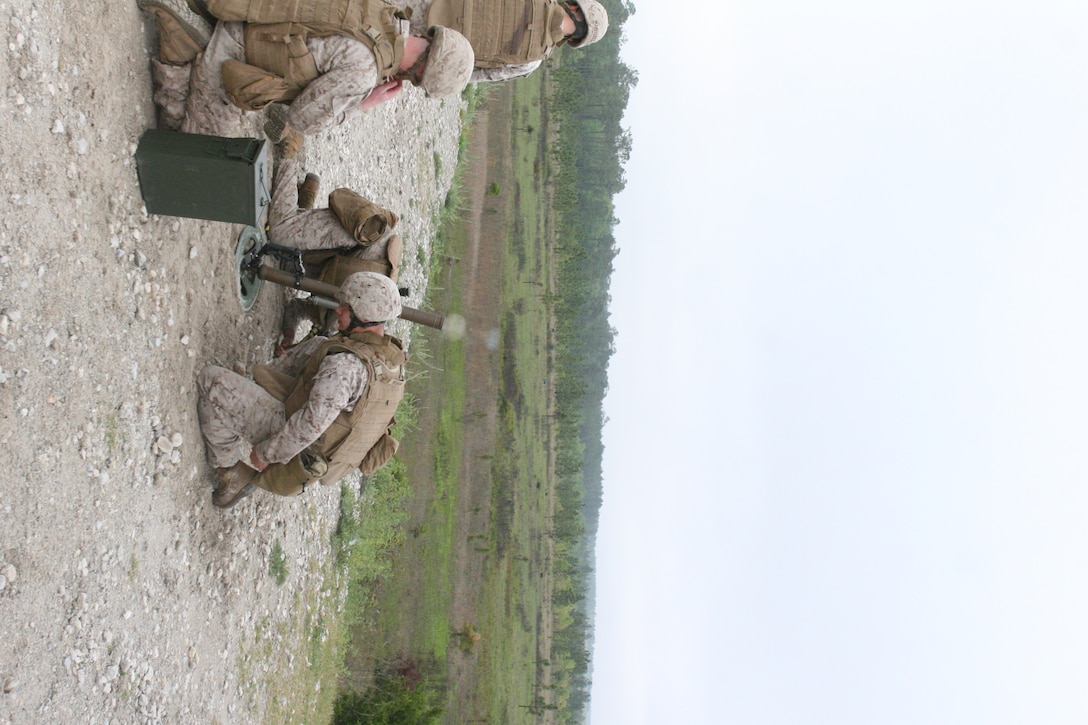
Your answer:
[[[405,532],[403,519],[395,520],[396,499],[376,499],[376,507],[368,504],[367,518],[385,521],[386,528],[373,525],[376,527],[373,540],[363,544],[370,554],[349,567],[353,582],[366,583],[360,588],[364,595],[358,601],[355,601],[357,594],[353,586],[349,604],[366,615],[360,617],[366,619],[366,627],[356,630],[356,636],[364,641],[367,662],[371,666],[374,662],[404,654],[433,659],[441,665],[447,656],[473,659],[477,691],[449,692],[444,723],[475,717],[494,723],[529,722],[528,711],[522,705],[537,702],[543,666],[537,655],[536,617],[539,613],[545,618],[552,616],[539,577],[539,572],[548,566],[548,562],[542,561],[549,526],[547,486],[537,486],[547,478],[547,452],[541,445],[542,440],[547,440],[544,422],[547,397],[541,383],[548,374],[546,330],[549,305],[554,300],[554,291],[546,284],[546,241],[551,229],[546,179],[540,167],[540,143],[547,130],[541,114],[541,84],[517,82],[515,85],[510,121],[517,127],[531,126],[534,133],[511,132],[514,172],[510,177],[491,181],[489,187],[487,205],[500,210],[509,225],[502,280],[503,309],[508,314],[504,316],[500,331],[500,352],[507,365],[505,371],[500,371],[504,378],[498,401],[498,440],[490,460],[492,481],[495,481],[491,500],[493,526],[490,531],[479,534],[480,538],[473,537],[470,546],[471,552],[486,557],[487,563],[483,591],[473,616],[481,640],[471,650],[461,651],[462,642],[453,635],[453,627],[462,627],[466,623],[462,618],[452,622],[450,612],[450,576],[456,570],[454,532],[460,491],[458,472],[466,420],[472,415],[470,402],[466,401],[463,344],[435,343],[425,360],[432,379],[426,381],[426,397],[417,409],[425,406],[434,418],[428,441],[433,458],[425,464],[411,463],[411,466],[425,465],[434,484],[425,520],[416,521],[411,530]],[[468,112],[473,113],[478,102],[479,96],[470,101]],[[434,251],[428,260],[430,294],[442,297],[430,306],[437,309],[449,309],[445,300],[459,299],[461,293],[460,266],[446,263],[467,245],[465,228],[457,223],[462,212],[460,174],[458,164],[454,187],[440,211],[441,231]],[[421,337],[413,335],[413,345]],[[409,440],[403,455],[411,460],[416,448]],[[404,484],[408,486],[408,481]],[[373,487],[372,480],[368,493]],[[379,492],[383,488],[384,484],[376,487]],[[349,516],[342,516],[338,536],[367,540],[361,533],[347,533],[353,526],[348,519]],[[361,521],[356,524],[361,525]],[[401,538],[398,542],[396,531],[407,539]],[[412,552],[411,557],[394,561],[393,553],[401,545]],[[357,577],[354,572],[358,569],[369,569],[373,574]],[[473,712],[458,710],[466,701],[472,702]],[[556,701],[551,699],[545,704]]]

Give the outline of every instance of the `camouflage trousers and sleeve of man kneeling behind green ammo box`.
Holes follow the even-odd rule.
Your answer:
[[[161,125],[194,134],[232,136],[246,113],[226,97],[222,65],[245,62],[245,24],[218,23],[203,53],[194,63],[166,65],[151,62],[154,102]],[[287,123],[302,134],[337,126],[378,85],[378,63],[366,44],[342,35],[309,38],[321,75],[292,101]]]

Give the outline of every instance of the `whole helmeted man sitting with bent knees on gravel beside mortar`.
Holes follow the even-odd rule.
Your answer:
[[[314,337],[257,366],[260,382],[218,366],[198,376],[197,411],[217,468],[217,506],[233,506],[255,486],[295,495],[312,480],[334,483],[351,468],[371,472],[396,451],[387,430],[403,394],[405,358],[382,323],[399,315],[399,294],[388,278],[360,272],[342,285],[341,302],[341,334]]]

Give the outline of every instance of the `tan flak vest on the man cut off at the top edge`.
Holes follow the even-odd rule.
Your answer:
[[[498,67],[551,56],[566,42],[565,16],[556,0],[434,0],[426,23],[468,38],[477,67]]]

